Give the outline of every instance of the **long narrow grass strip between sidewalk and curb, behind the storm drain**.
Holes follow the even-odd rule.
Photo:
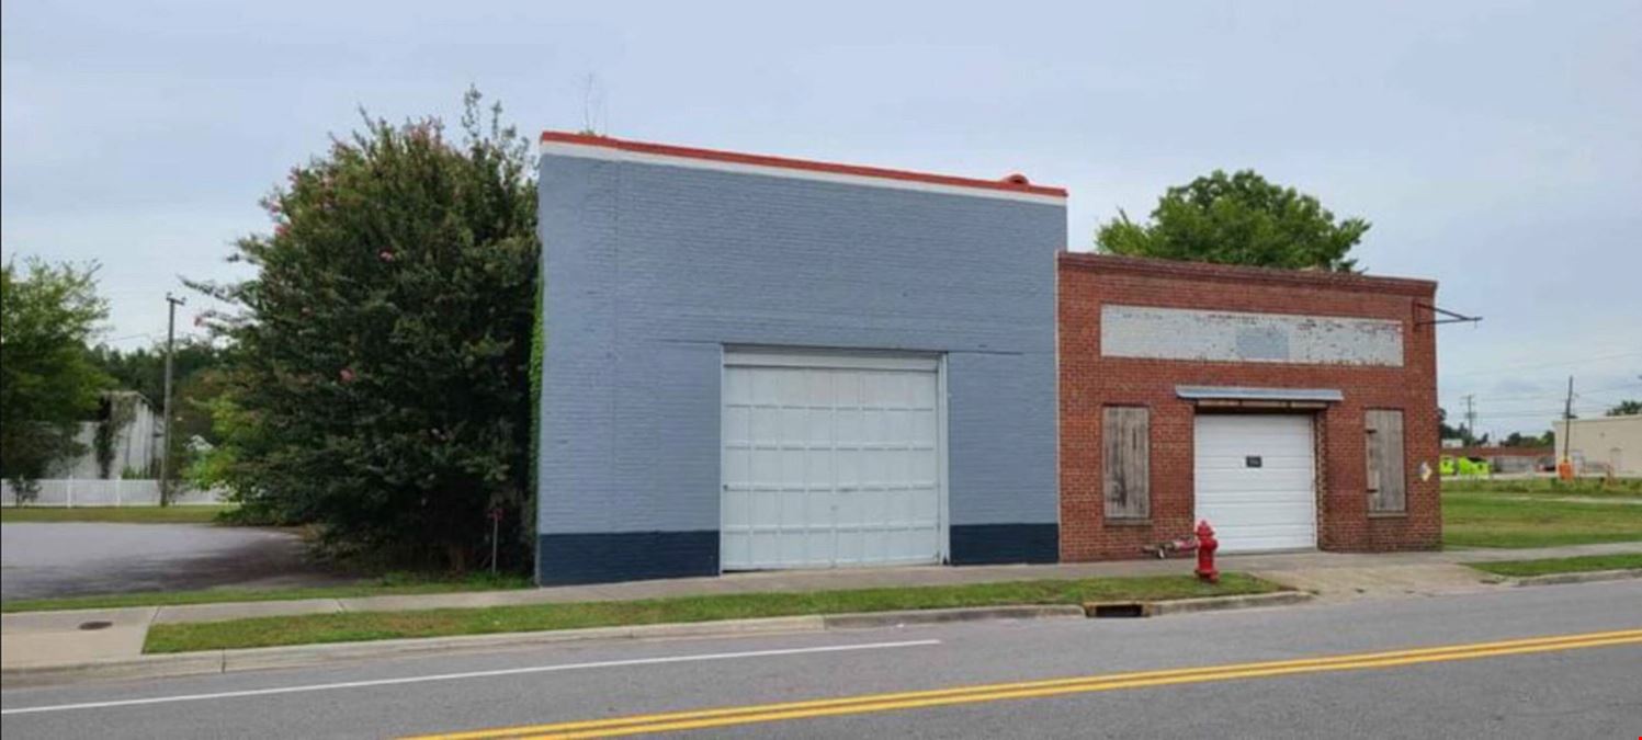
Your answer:
[[[650,625],[663,622],[711,622],[801,614],[883,612],[897,609],[1163,601],[1263,594],[1281,589],[1277,584],[1253,576],[1227,573],[1220,578],[1220,584],[1205,584],[1194,576],[1089,578],[1077,581],[1015,581],[970,586],[534,604],[491,609],[314,614],[228,622],[161,624],[148,630],[148,643],[144,643],[143,651],[181,653],[189,650],[570,630],[580,627]]]

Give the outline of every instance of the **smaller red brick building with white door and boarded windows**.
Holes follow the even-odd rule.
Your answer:
[[[1435,548],[1427,281],[1062,253],[1061,560]]]

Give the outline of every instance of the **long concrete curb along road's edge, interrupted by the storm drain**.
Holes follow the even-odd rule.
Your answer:
[[[1312,599],[1304,591],[1274,594],[1217,596],[1143,602],[1143,615],[1205,612],[1299,604]],[[1133,602],[1130,602],[1133,604]],[[277,648],[202,650],[197,653],[143,655],[66,666],[18,666],[0,671],[5,687],[51,686],[80,681],[130,681],[151,678],[200,676],[212,673],[259,671],[269,668],[304,668],[371,658],[406,658],[443,651],[478,651],[583,640],[647,640],[681,637],[745,637],[849,630],[869,627],[928,625],[946,622],[979,622],[1002,619],[1084,619],[1094,605],[1033,604],[1002,607],[916,609],[901,612],[862,612],[801,617],[737,619],[719,622],[680,622],[662,625],[593,627],[585,630],[507,632],[499,635],[460,635],[406,640],[369,640],[328,645],[287,645]]]

